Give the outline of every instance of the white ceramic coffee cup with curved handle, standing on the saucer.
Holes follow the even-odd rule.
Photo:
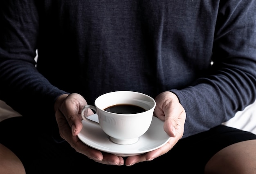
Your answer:
[[[144,112],[120,114],[108,112],[104,109],[119,105],[130,104],[144,108]],[[149,128],[156,106],[155,100],[143,93],[134,91],[115,91],[99,96],[94,105],[85,105],[81,116],[85,121],[99,124],[101,129],[110,136],[110,140],[117,144],[127,145],[136,143],[141,135]],[[88,108],[94,110],[99,123],[91,121],[84,114]]]

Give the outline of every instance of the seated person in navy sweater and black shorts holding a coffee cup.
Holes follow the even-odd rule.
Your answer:
[[[256,98],[255,0],[2,0],[0,8],[0,99],[23,115],[1,123],[16,125],[6,137],[18,134],[1,143],[27,173],[255,172],[256,135],[221,126]],[[81,108],[114,90],[154,97],[170,141],[126,158],[82,143]]]

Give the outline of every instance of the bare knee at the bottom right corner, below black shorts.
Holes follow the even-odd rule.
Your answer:
[[[256,174],[256,140],[220,150],[205,166],[205,174]]]

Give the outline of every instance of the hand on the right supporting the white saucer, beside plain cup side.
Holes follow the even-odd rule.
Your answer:
[[[151,161],[167,153],[183,136],[186,112],[177,96],[166,91],[159,94],[155,98],[155,101],[155,116],[164,121],[164,131],[171,139],[159,149],[138,156],[129,156],[126,159],[126,165],[133,165],[142,161]]]

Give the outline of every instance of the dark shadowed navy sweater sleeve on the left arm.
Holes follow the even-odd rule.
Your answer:
[[[22,115],[27,110],[24,106],[30,106],[34,113],[42,106],[52,112],[56,97],[65,93],[52,86],[35,67],[39,32],[35,3],[0,2],[0,98]]]

